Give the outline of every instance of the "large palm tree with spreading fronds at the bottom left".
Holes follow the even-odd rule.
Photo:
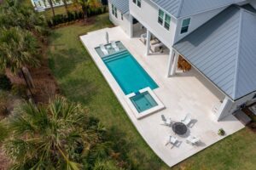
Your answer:
[[[3,142],[3,150],[15,169],[81,169],[86,150],[101,138],[88,110],[62,97],[48,105],[20,105],[7,127],[12,137]]]

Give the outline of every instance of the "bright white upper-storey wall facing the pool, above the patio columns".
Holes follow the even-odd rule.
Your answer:
[[[130,13],[136,18],[144,27],[146,27],[155,37],[159,38],[168,48],[172,48],[175,31],[176,31],[176,19],[171,19],[171,26],[169,31],[160,26],[158,23],[158,11],[159,8],[151,3],[149,0],[142,0],[142,7],[138,8],[136,4],[130,3]]]

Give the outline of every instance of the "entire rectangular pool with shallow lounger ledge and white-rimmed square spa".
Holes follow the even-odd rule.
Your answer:
[[[116,42],[116,44],[119,47],[118,52],[113,49],[112,44],[104,45],[108,54],[103,54],[99,47],[96,48],[96,52],[118,82],[119,87],[122,88],[125,100],[137,119],[165,108],[152,91],[159,88],[158,85],[122,42]]]

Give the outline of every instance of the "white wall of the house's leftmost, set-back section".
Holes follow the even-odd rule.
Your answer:
[[[118,13],[118,18],[116,18],[113,14],[112,14],[112,4],[108,3],[108,8],[109,8],[109,20],[111,20],[113,22],[113,25],[115,26],[120,26],[125,33],[131,37],[131,24],[130,24],[130,14],[124,14],[123,15],[123,19],[121,19],[121,12],[119,11],[119,9],[117,10]]]

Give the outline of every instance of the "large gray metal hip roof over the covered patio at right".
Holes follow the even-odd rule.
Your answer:
[[[230,6],[173,48],[231,99],[256,91],[256,15]]]

